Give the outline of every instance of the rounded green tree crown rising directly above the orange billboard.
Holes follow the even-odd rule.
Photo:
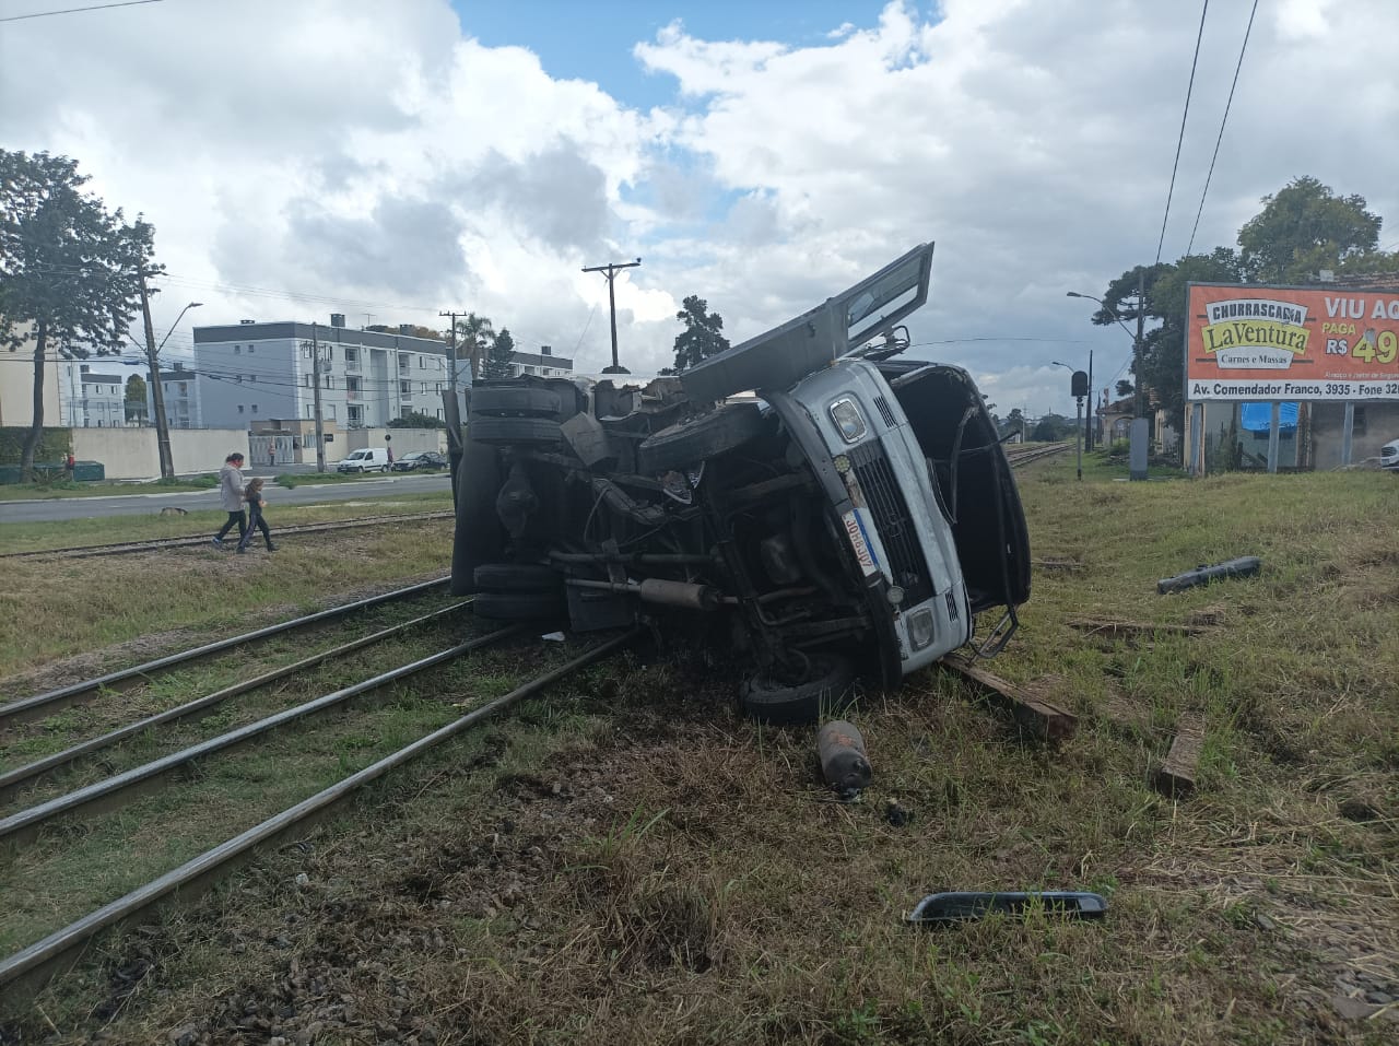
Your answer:
[[[1379,252],[1381,218],[1365,197],[1336,196],[1315,178],[1294,178],[1238,231],[1245,280],[1309,284],[1322,268],[1365,268]]]

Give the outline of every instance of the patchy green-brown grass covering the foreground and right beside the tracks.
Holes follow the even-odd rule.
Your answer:
[[[1399,488],[1119,475],[1090,460],[1081,484],[1070,461],[1020,477],[1041,566],[992,668],[1077,713],[1072,740],[1028,743],[923,673],[849,715],[874,782],[845,804],[811,729],[734,715],[723,652],[630,656],[108,938],[0,1040],[1393,1042]],[[1245,554],[1260,576],[1156,594]],[[383,576],[400,555],[404,575],[425,569],[385,548]],[[245,612],[306,600],[344,586],[333,564],[278,559],[235,590]],[[122,604],[127,568],[85,569],[92,600]],[[56,587],[31,582],[6,619],[78,612]],[[197,600],[133,614],[229,624]],[[1088,617],[1199,631],[1104,642],[1073,624]],[[90,642],[132,629],[109,632]],[[49,628],[22,646],[67,650]],[[410,696],[532,668],[520,653]],[[1199,789],[1168,798],[1150,779],[1182,723],[1203,733]],[[1035,888],[1094,889],[1111,910],[904,922],[933,891]]]

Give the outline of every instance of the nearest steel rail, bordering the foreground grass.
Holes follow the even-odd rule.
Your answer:
[[[431,734],[427,734],[425,737],[400,748],[397,752],[365,766],[362,771],[350,775],[344,780],[340,780],[336,784],[318,791],[315,796],[302,800],[294,807],[290,807],[283,812],[267,818],[262,824],[249,828],[246,832],[220,843],[211,850],[206,850],[180,867],[165,873],[151,882],[147,882],[144,887],[137,887],[126,896],[104,905],[83,919],[49,934],[43,940],[36,941],[27,948],[22,948],[14,955],[7,957],[0,961],[0,987],[8,987],[10,984],[21,980],[32,983],[45,977],[66,958],[73,957],[78,950],[85,947],[87,943],[102,930],[141,915],[172,894],[179,892],[183,898],[193,896],[211,884],[221,873],[229,871],[235,863],[250,857],[256,847],[271,842],[291,829],[311,821],[313,817],[326,812],[336,804],[350,797],[357,789],[382,778],[385,773],[397,769],[403,764],[416,759],[436,745],[452,740],[457,734],[474,727],[485,719],[490,719],[498,712],[505,710],[523,698],[544,689],[551,682],[576,671],[585,664],[600,660],[623,645],[630,643],[637,635],[637,629],[631,629],[624,635],[595,646],[592,650],[582,653],[567,664],[516,687],[509,694],[504,694],[494,701],[488,701],[460,719],[448,723],[446,726],[434,730]]]

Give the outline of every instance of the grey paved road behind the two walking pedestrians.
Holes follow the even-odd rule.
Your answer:
[[[432,475],[393,475],[343,484],[306,484],[291,491],[273,487],[267,491],[269,512],[278,505],[319,505],[327,501],[390,501],[395,494],[424,494],[450,489],[446,473]],[[104,516],[155,515],[166,505],[190,512],[218,510],[218,491],[180,494],[123,494],[112,498],[49,498],[43,501],[0,502],[0,523],[43,523],[59,519],[101,519]]]

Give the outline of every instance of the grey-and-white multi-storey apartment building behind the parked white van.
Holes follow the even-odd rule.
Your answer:
[[[411,413],[441,418],[449,380],[443,343],[351,330],[343,313],[332,313],[330,326],[243,320],[194,327],[194,372],[199,414],[211,428],[315,418],[316,382],[322,418],[341,429],[379,428]],[[457,380],[466,385],[464,375]]]

